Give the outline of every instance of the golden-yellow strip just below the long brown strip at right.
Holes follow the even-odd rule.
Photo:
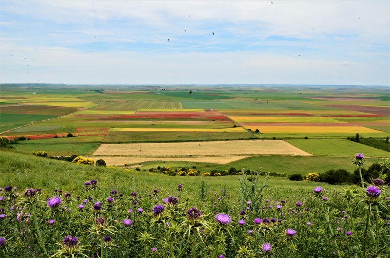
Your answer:
[[[261,133],[383,133],[382,131],[370,129],[361,126],[257,126],[257,127],[245,127],[246,129],[259,129]]]

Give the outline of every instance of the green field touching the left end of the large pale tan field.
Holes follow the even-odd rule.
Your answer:
[[[78,137],[74,138],[76,139]],[[50,143],[37,142],[42,140],[20,141],[19,144],[15,144],[13,146],[16,148],[16,150],[25,153],[41,150],[46,151],[49,153],[49,155],[54,156],[71,156],[74,154],[80,156],[89,156],[100,146],[99,143],[80,143],[77,141],[77,139],[74,143],[63,143],[60,139],[61,138],[51,139]],[[59,141],[57,142],[57,140]]]

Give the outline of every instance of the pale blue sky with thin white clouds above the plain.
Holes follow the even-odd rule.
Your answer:
[[[386,86],[389,62],[389,0],[0,1],[1,83]]]

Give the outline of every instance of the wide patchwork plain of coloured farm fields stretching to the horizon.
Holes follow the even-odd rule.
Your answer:
[[[101,144],[137,143],[130,148],[138,153],[127,153],[123,148],[119,152],[106,149],[95,154],[107,161],[117,158],[109,162],[113,165],[123,165],[119,157],[113,156],[121,155],[120,159],[124,159],[127,155],[126,163],[132,161],[145,167],[158,163],[156,156],[169,156],[171,149],[181,150],[178,151],[181,157],[172,154],[172,160],[164,157],[164,162],[177,166],[180,162],[201,163],[205,170],[242,166],[244,162],[253,164],[251,167],[258,166],[257,162],[269,166],[271,160],[289,163],[287,158],[299,158],[299,163],[308,165],[308,172],[312,166],[306,161],[313,158],[318,158],[316,162],[320,164],[315,167],[320,168],[330,167],[334,159],[346,159],[345,156],[357,152],[368,157],[389,156],[386,151],[345,140],[356,133],[361,137],[389,136],[387,87],[252,85],[191,86],[191,89],[192,94],[188,94],[188,86],[1,85],[1,131],[13,130],[0,136],[30,137],[31,141],[20,141],[14,147],[22,152],[44,150],[57,156],[93,157]],[[66,137],[68,133],[75,137]],[[54,138],[56,135],[58,138]],[[308,139],[304,140],[305,137]],[[273,152],[271,147],[267,147],[268,152],[261,152],[256,146],[250,152],[242,152],[250,146],[251,139],[287,140],[302,153],[317,157],[280,156],[293,153]],[[246,141],[218,149],[219,143],[236,140]],[[281,142],[280,146],[287,143]],[[161,144],[162,152],[143,148],[146,143]],[[183,145],[173,147],[173,143]],[[190,143],[194,146],[183,147]],[[207,146],[207,152],[198,154],[199,157],[187,153],[185,157],[187,149],[195,150],[199,144]],[[241,155],[242,159],[233,159],[231,155],[213,163],[212,157],[225,149],[234,149],[234,155]],[[248,153],[252,156],[246,157]],[[183,157],[186,159],[182,160]],[[270,171],[283,170],[269,167]],[[285,169],[296,170],[291,166]]]

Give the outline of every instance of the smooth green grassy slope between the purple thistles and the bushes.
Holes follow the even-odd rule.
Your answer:
[[[147,196],[153,189],[158,188],[160,196],[173,194],[177,184],[183,184],[183,197],[191,196],[192,200],[198,196],[201,182],[207,181],[208,195],[212,192],[220,192],[226,184],[229,195],[238,197],[238,176],[224,177],[171,177],[149,172],[124,171],[120,168],[106,168],[88,165],[78,165],[68,162],[40,158],[33,155],[25,155],[14,150],[2,150],[0,155],[0,187],[6,185],[17,186],[20,189],[27,187],[42,188],[44,193],[51,194],[54,188],[64,191],[82,189],[85,181],[97,179],[99,187],[106,192],[117,189],[118,192],[129,194],[137,191],[142,196]],[[262,177],[264,179],[264,177]],[[298,194],[312,191],[317,185],[326,185],[327,189],[340,189],[320,183],[306,183],[289,181],[285,178],[270,177],[268,190],[275,191],[277,196]]]

